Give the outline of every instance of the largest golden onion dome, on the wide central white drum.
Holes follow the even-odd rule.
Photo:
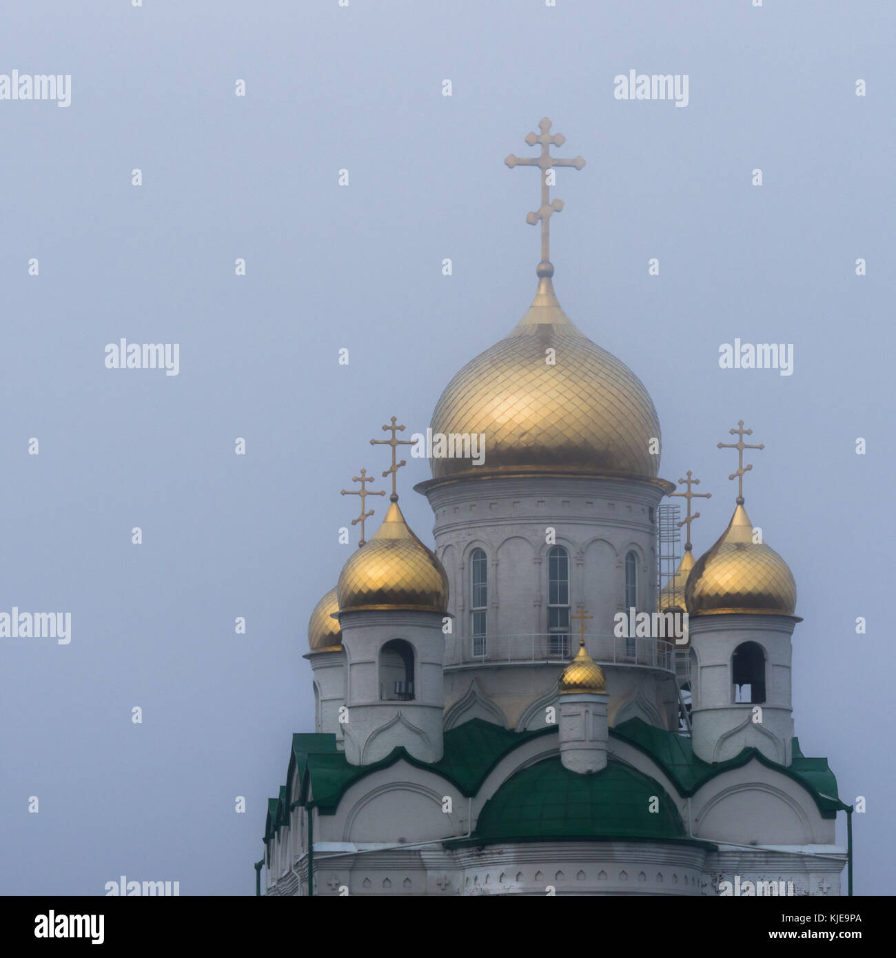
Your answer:
[[[549,275],[517,327],[451,379],[430,425],[485,436],[483,465],[433,457],[436,479],[542,471],[655,480],[658,467],[647,390],[570,322]]]

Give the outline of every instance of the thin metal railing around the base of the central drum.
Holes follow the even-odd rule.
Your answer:
[[[495,665],[507,663],[566,663],[579,649],[577,635],[542,632],[530,635],[489,635],[484,643],[485,654],[473,654],[471,636],[449,642],[446,668],[459,665]],[[476,650],[482,648],[477,638]],[[674,640],[628,638],[618,635],[585,635],[585,647],[595,662],[604,665],[642,666],[676,672],[677,647]],[[678,647],[680,649],[680,647]],[[678,666],[681,668],[681,666]]]

